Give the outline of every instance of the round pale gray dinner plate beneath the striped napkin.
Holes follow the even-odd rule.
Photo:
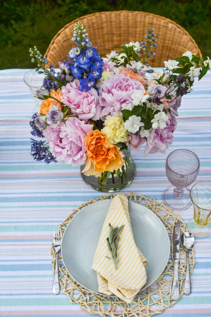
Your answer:
[[[110,202],[101,200],[79,211],[66,227],[61,244],[62,259],[71,277],[97,294],[102,293],[91,266]],[[128,209],[135,243],[148,261],[144,289],[164,271],[170,253],[169,236],[162,221],[148,208],[129,202]]]

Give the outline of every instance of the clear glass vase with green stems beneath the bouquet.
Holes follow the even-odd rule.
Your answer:
[[[101,177],[98,177],[97,175],[84,175],[82,171],[85,165],[81,165],[81,177],[84,182],[96,191],[109,193],[119,191],[128,186],[135,176],[135,163],[131,158],[130,149],[122,150],[121,152],[124,154],[123,159],[125,161],[122,167],[113,172],[105,171],[102,173]]]

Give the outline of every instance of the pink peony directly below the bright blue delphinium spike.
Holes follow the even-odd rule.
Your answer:
[[[71,109],[71,113],[77,114],[79,119],[99,120],[102,108],[98,104],[99,97],[96,90],[92,87],[90,90],[79,91],[79,85],[79,80],[75,79],[63,86],[61,101]]]

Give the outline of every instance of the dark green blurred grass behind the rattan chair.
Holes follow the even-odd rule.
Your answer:
[[[86,14],[111,10],[145,11],[168,17],[189,32],[204,58],[211,57],[211,0],[3,0],[0,69],[33,68],[30,47],[36,45],[44,54],[65,24]]]

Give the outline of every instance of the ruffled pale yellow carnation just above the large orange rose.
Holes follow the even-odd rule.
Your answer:
[[[101,131],[106,134],[109,142],[112,144],[126,142],[129,135],[124,127],[124,120],[120,114],[107,116],[104,122],[104,128]]]

